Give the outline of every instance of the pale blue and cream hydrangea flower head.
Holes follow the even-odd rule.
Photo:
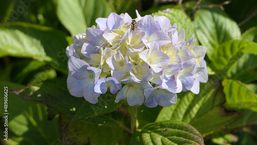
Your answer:
[[[176,103],[181,91],[199,93],[199,82],[208,80],[206,48],[194,47],[194,35],[185,41],[185,31],[178,32],[165,16],[137,12],[135,20],[131,24],[127,13],[111,13],[72,39],[66,49],[72,96],[95,104],[109,89],[118,92],[116,102],[155,107]]]

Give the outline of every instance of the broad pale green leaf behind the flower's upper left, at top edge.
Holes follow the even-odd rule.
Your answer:
[[[87,27],[96,25],[98,17],[111,13],[104,0],[58,0],[57,15],[71,35],[85,33]]]

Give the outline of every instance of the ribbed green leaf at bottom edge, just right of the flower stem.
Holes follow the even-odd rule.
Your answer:
[[[201,134],[190,124],[169,120],[149,123],[136,130],[131,144],[205,144]]]

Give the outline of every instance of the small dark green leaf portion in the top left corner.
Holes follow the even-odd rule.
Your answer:
[[[9,0],[9,1],[1,1],[1,5],[0,5],[0,22],[2,23],[7,23],[11,12],[12,12],[12,8],[14,5],[14,0]]]

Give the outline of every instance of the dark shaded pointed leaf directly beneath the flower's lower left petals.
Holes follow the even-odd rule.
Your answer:
[[[70,120],[69,125],[81,119],[87,119],[115,111],[123,103],[123,101],[120,101],[119,103],[115,102],[116,95],[117,94],[111,94],[111,92],[108,91],[98,97],[98,103],[96,104],[91,104],[85,100]]]

